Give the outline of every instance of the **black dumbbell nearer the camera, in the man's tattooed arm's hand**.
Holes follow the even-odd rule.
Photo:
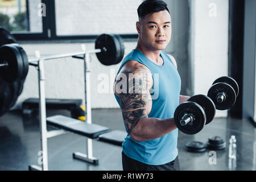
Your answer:
[[[204,125],[209,124],[215,113],[214,102],[208,96],[199,94],[177,106],[174,121],[180,131],[192,135],[199,133]]]

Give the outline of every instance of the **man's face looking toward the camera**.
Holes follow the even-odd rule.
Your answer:
[[[171,16],[166,10],[144,16],[136,26],[141,42],[147,48],[163,50],[171,40]]]

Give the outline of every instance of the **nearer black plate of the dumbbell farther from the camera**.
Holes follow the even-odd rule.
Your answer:
[[[225,93],[226,99],[218,103],[217,102],[217,94],[218,93]],[[207,93],[207,96],[212,99],[214,102],[216,109],[218,110],[226,110],[232,107],[236,102],[236,92],[230,86],[229,84],[226,84],[224,82],[218,82],[214,85],[212,85]]]

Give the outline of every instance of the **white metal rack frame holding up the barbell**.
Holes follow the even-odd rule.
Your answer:
[[[45,73],[44,73],[44,61],[59,59],[64,57],[72,56],[83,56],[84,60],[84,81],[85,81],[85,117],[88,124],[92,123],[92,111],[90,102],[90,53],[101,52],[101,49],[94,49],[92,51],[86,51],[85,44],[81,44],[82,52],[64,53],[59,55],[52,55],[47,57],[41,57],[39,51],[35,51],[36,59],[29,60],[29,64],[36,67],[38,70],[38,84],[39,84],[39,118],[40,118],[40,140],[42,149],[42,167],[36,165],[29,166],[29,170],[36,171],[48,171],[48,150],[47,150],[47,139],[51,137],[56,137],[67,133],[65,130],[52,130],[47,131],[46,123],[46,94],[45,94]],[[93,157],[92,139],[87,138],[86,152],[87,154],[82,154],[80,152],[75,152],[73,158],[83,160],[88,163],[97,163],[97,159]]]

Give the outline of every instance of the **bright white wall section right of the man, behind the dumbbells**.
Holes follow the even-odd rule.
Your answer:
[[[194,93],[207,94],[216,78],[228,75],[228,0],[191,0],[191,61]],[[218,111],[216,117],[226,117]]]

